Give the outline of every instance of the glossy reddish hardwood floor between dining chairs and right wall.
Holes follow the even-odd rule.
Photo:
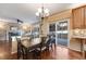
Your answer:
[[[53,50],[42,52],[41,60],[82,60],[82,54],[63,47],[56,47]]]

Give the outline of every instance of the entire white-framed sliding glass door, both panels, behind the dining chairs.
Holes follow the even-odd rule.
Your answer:
[[[62,20],[50,24],[49,33],[56,38],[56,43],[58,46],[69,47],[69,22],[70,20]]]

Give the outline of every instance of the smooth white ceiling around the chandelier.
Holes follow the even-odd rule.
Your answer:
[[[35,13],[41,5],[41,3],[0,3],[0,17],[35,23],[38,22]],[[67,10],[71,5],[73,3],[44,3],[44,8],[49,9],[50,14]]]

